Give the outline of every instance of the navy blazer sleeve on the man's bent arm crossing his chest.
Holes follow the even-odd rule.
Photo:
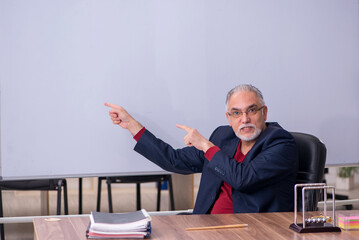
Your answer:
[[[209,170],[241,192],[256,191],[297,175],[298,153],[294,138],[284,129],[264,131],[243,163],[218,151]]]

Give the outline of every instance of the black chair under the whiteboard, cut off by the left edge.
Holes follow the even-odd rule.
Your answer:
[[[68,214],[66,179],[0,181],[0,217],[3,217],[2,190],[56,190],[57,215],[61,214],[61,189],[64,189],[64,213]],[[0,224],[1,240],[5,239],[4,224]]]

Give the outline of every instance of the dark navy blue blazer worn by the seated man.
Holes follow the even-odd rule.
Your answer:
[[[195,214],[211,211],[223,181],[232,186],[234,213],[293,211],[298,153],[290,133],[267,123],[243,163],[233,158],[239,138],[230,126],[218,127],[209,140],[221,149],[211,161],[194,147],[175,150],[148,130],[135,151],[170,172],[202,173]]]

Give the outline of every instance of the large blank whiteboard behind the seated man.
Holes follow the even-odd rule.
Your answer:
[[[0,1],[3,179],[161,173],[103,104],[173,147],[227,124],[228,90],[359,163],[357,0]]]

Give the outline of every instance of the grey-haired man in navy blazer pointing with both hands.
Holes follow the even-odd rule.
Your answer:
[[[209,140],[196,129],[185,130],[188,147],[173,149],[156,138],[125,109],[111,103],[114,124],[128,129],[135,151],[175,173],[202,173],[194,214],[280,212],[293,210],[298,153],[293,137],[277,123],[266,122],[268,108],[252,85],[227,94],[229,126],[218,127]]]

